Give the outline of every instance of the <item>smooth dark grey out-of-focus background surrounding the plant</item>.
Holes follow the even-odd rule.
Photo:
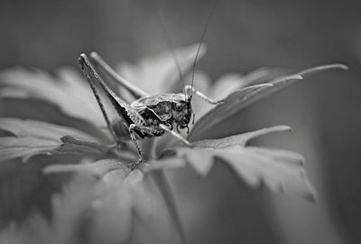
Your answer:
[[[207,0],[3,0],[0,67],[53,72],[77,66],[79,53],[93,50],[112,65],[139,61],[167,50],[155,13],[162,14],[174,47],[180,47],[199,41],[211,5]],[[293,127],[292,134],[256,143],[304,155],[317,204],[253,192],[220,165],[204,181],[187,170],[174,172],[173,189],[191,243],[361,243],[360,13],[356,0],[218,1],[205,38],[208,54],[199,62],[213,80],[260,67],[303,70],[341,62],[350,69],[314,75],[219,125],[223,134]]]

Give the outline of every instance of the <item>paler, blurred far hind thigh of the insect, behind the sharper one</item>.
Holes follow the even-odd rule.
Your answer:
[[[101,70],[103,70],[106,75],[108,75],[110,78],[115,80],[119,85],[127,89],[133,96],[134,99],[140,99],[143,97],[149,97],[150,95],[143,91],[143,89],[140,89],[128,80],[125,80],[123,77],[121,77],[118,73],[116,73],[115,70],[110,68],[110,66],[104,61],[97,52],[91,52],[90,53],[90,59],[97,65],[97,67]]]

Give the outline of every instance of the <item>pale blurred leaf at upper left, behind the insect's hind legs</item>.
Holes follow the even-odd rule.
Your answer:
[[[41,99],[71,117],[105,124],[91,89],[72,68],[58,70],[58,77],[42,70],[9,69],[0,73],[0,85],[0,99]]]

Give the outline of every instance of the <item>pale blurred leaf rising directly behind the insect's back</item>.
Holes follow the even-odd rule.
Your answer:
[[[198,45],[195,43],[174,51],[182,74],[192,67]],[[199,51],[199,59],[205,52],[206,47],[203,45]],[[180,80],[180,74],[171,52],[145,58],[137,64],[122,63],[117,70],[126,80],[130,80],[150,95],[168,93],[174,91],[174,87],[179,88],[176,82]]]

